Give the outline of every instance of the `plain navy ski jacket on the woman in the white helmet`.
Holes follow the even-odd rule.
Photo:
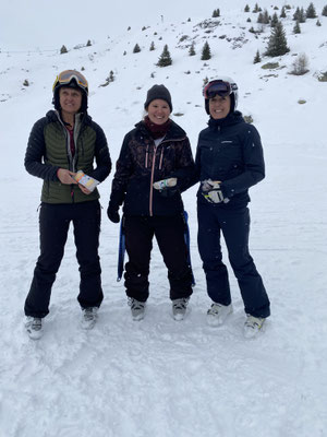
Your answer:
[[[195,157],[197,180],[220,180],[228,203],[214,208],[242,208],[249,201],[249,188],[265,177],[265,162],[259,134],[244,121],[240,111],[221,120],[210,118],[208,128],[199,132]],[[197,200],[207,201],[201,188]]]

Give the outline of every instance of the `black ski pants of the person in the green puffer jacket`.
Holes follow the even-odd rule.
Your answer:
[[[72,204],[41,203],[40,256],[25,300],[26,316],[43,318],[49,314],[51,288],[63,257],[70,222],[74,225],[81,274],[77,300],[82,308],[100,306],[104,298],[98,256],[100,221],[97,200]]]

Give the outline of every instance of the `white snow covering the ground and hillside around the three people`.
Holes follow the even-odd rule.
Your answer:
[[[10,10],[19,3],[3,5],[2,20],[5,13],[10,19]],[[40,2],[32,3],[37,7]],[[76,3],[72,0],[62,15],[56,15],[52,8],[53,21],[56,16],[68,20]],[[40,39],[35,48],[33,33],[23,26],[24,13],[31,24],[29,10],[16,14],[14,34],[3,27],[0,437],[326,436],[327,85],[317,81],[317,74],[327,71],[327,17],[320,15],[324,1],[314,2],[322,26],[307,20],[301,24],[302,33],[292,35],[294,8],[308,5],[298,1],[283,21],[291,51],[281,58],[264,58],[258,64],[252,61],[257,49],[264,52],[270,31],[266,27],[258,38],[249,33],[251,26],[256,27],[256,15],[245,15],[246,2],[221,1],[221,26],[206,34],[195,25],[210,17],[216,1],[201,8],[184,0],[167,1],[164,23],[157,4],[155,11],[155,3],[144,1],[140,10],[131,7],[123,28],[100,38],[104,20],[108,17],[110,23],[121,17],[114,15],[121,13],[116,7],[110,10],[105,3],[94,2],[87,32],[84,26],[81,34],[81,26],[70,23],[70,31],[76,26],[75,33],[66,34],[70,40],[52,32],[49,8],[37,9],[38,25],[49,29],[45,49],[39,48]],[[283,4],[280,0],[275,3],[279,10]],[[84,3],[81,0],[78,4]],[[259,5],[274,12],[267,0]],[[99,25],[93,20],[94,10]],[[247,16],[252,23],[246,22]],[[82,20],[78,12],[76,17]],[[126,32],[129,24],[132,28]],[[142,31],[142,25],[150,27]],[[85,45],[93,33],[92,47],[73,48]],[[244,34],[243,42],[247,42],[233,49],[233,39],[218,37],[223,34],[229,38]],[[190,40],[179,44],[182,35]],[[178,46],[190,44],[195,36],[197,55],[189,57],[187,48]],[[199,60],[204,36],[213,51],[206,66]],[[152,40],[155,51],[148,50]],[[136,43],[142,51],[133,55]],[[62,44],[69,54],[59,55]],[[165,44],[173,64],[159,69],[155,63]],[[49,45],[52,51],[48,51]],[[308,57],[310,72],[290,75],[294,55],[300,52]],[[263,70],[268,61],[278,61],[280,69]],[[243,339],[243,304],[232,272],[234,311],[221,328],[206,324],[209,299],[196,246],[195,187],[183,194],[196,279],[190,314],[182,322],[171,318],[167,270],[155,245],[147,315],[141,322],[132,321],[123,284],[116,282],[119,226],[105,213],[112,174],[99,188],[105,300],[97,326],[89,332],[80,327],[78,272],[71,234],[44,338],[27,338],[23,306],[38,256],[41,181],[24,169],[26,142],[33,123],[51,108],[56,74],[82,67],[90,85],[89,114],[104,128],[113,162],[123,135],[142,118],[146,91],[154,83],[165,83],[170,90],[173,113],[183,114],[173,119],[186,130],[194,152],[207,121],[203,80],[225,74],[239,83],[239,108],[253,117],[261,132],[267,166],[266,179],[251,189],[250,204],[251,252],[271,300],[271,317],[256,340]],[[100,87],[110,70],[116,81]],[[155,78],[150,78],[153,72]],[[25,79],[29,86],[23,86]],[[300,105],[299,99],[306,103]]]

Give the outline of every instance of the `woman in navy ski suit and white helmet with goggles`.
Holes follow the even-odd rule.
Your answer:
[[[219,78],[204,88],[210,119],[198,137],[195,158],[201,186],[197,192],[198,250],[213,305],[210,326],[222,324],[232,312],[227,268],[222,262],[222,233],[229,260],[244,302],[244,335],[254,336],[270,315],[269,299],[249,252],[249,188],[265,177],[261,138],[237,109],[238,85]]]

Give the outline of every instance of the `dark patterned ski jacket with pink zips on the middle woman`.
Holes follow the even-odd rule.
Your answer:
[[[181,192],[191,186],[194,161],[184,130],[171,121],[170,128],[156,145],[143,121],[130,131],[117,161],[110,205],[122,203],[126,215],[175,215],[183,211]],[[175,193],[165,197],[153,188],[155,181],[175,177]]]

